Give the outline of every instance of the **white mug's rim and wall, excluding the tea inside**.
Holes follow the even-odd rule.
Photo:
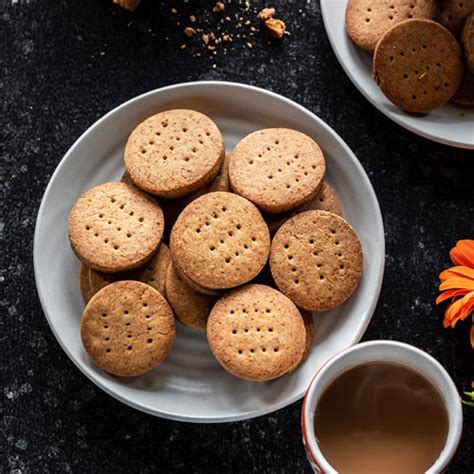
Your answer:
[[[437,388],[448,413],[449,430],[446,444],[428,474],[443,472],[453,458],[462,434],[461,399],[449,374],[441,364],[416,347],[395,341],[371,341],[346,349],[329,359],[316,373],[306,392],[301,417],[303,442],[309,462],[316,473],[337,471],[324,458],[314,431],[316,405],[326,388],[343,372],[368,362],[392,362],[423,375]]]

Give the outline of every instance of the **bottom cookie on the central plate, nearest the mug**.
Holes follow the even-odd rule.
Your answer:
[[[207,339],[218,362],[231,374],[255,382],[291,370],[301,360],[305,338],[298,308],[265,285],[227,293],[207,321]]]

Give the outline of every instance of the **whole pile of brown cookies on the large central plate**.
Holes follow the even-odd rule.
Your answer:
[[[311,312],[344,302],[362,273],[318,144],[265,129],[229,156],[209,117],[169,110],[135,128],[124,162],[122,182],[87,191],[68,222],[92,360],[143,374],[172,350],[178,321],[205,330],[237,377],[295,370],[312,346]]]

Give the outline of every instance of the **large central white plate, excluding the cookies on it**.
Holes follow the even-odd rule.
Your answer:
[[[341,307],[315,316],[314,347],[300,368],[269,383],[226,373],[213,358],[203,332],[178,328],[169,358],[148,374],[117,378],[97,368],[84,352],[79,322],[84,303],[79,261],[71,251],[67,218],[74,202],[99,183],[120,179],[131,130],[165,109],[193,108],[212,117],[227,150],[263,127],[293,127],[324,150],[328,181],[342,202],[364,249],[364,273],[356,293]],[[34,267],[44,313],[64,351],[96,385],[122,402],[153,415],[193,422],[224,422],[263,415],[300,399],[315,372],[331,356],[358,342],[374,312],[385,257],[382,217],[374,190],[357,158],[324,122],[300,105],[262,89],[225,82],[165,87],[112,110],[66,153],[46,189],[36,223]]]

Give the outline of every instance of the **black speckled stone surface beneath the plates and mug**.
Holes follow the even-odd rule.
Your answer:
[[[268,44],[257,33],[252,49],[236,38],[226,55],[195,57],[204,50],[197,39],[185,40],[185,18],[204,16],[211,3],[143,0],[129,14],[108,0],[0,1],[1,472],[310,471],[300,402],[224,425],[136,412],[75,368],[40,307],[33,233],[56,165],[113,107],[184,81],[239,81],[284,94],[346,140],[372,180],[386,228],[385,280],[365,339],[414,344],[446,367],[459,390],[470,387],[468,324],[444,330],[434,300],[449,249],[474,237],[473,152],[429,142],[374,109],[339,66],[317,1],[273,4],[291,36]],[[263,2],[251,5],[258,10]],[[232,10],[243,11],[243,2],[228,5],[226,14]],[[246,15],[258,26],[253,13]],[[474,409],[466,408],[450,473],[473,471],[473,445]]]

